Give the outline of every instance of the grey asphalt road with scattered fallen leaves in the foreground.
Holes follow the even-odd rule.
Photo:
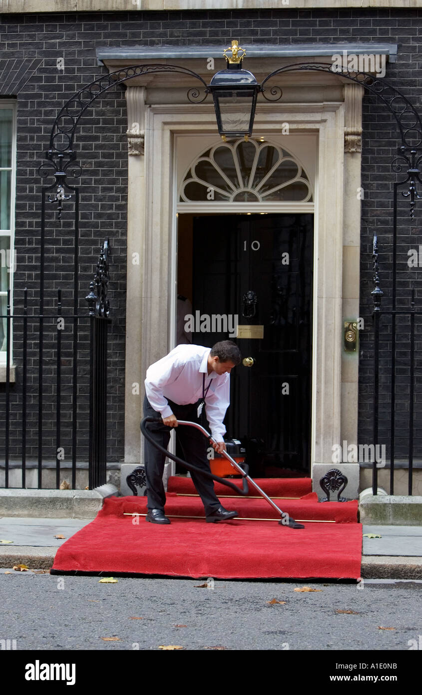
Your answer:
[[[5,571],[0,639],[16,640],[18,651],[362,650],[371,660],[377,650],[422,649],[422,582],[215,580],[206,588],[204,580],[102,584],[99,577]],[[294,591],[304,586],[318,591]]]

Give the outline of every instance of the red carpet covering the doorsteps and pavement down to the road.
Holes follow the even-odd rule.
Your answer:
[[[221,579],[360,577],[362,526],[357,523],[356,501],[317,502],[316,494],[310,493],[310,480],[305,478],[257,482],[271,496],[299,497],[305,493],[298,500],[275,500],[296,521],[335,523],[305,521],[304,529],[294,530],[276,521],[259,521],[278,517],[262,498],[241,497],[222,498],[221,502],[226,509],[236,509],[239,516],[253,517],[254,521],[236,518],[205,523],[201,500],[175,492],[193,492],[192,481],[174,477],[169,480],[172,492],[167,493],[165,508],[171,515],[170,525],[147,523],[142,516],[124,516],[124,512],[145,514],[144,497],[105,499],[94,521],[58,549],[51,572]],[[230,489],[219,484],[216,491],[230,494]]]

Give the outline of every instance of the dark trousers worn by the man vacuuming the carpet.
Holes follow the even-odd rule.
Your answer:
[[[179,405],[169,400],[169,406],[174,412],[178,420],[190,420],[197,423],[198,420],[198,403],[188,405]],[[160,413],[155,411],[151,406],[148,398],[144,398],[144,417],[153,416],[161,417]],[[173,427],[159,423],[148,423],[149,432],[153,439],[160,444],[164,449],[167,449],[170,440],[170,432]],[[208,439],[199,430],[187,425],[179,425],[176,429],[176,436],[182,445],[188,464],[192,464],[197,468],[202,468],[203,471],[210,473],[210,463],[207,458],[207,448],[210,446]],[[144,465],[146,473],[146,495],[148,497],[148,509],[164,509],[166,502],[166,494],[164,485],[162,484],[162,474],[164,473],[164,464],[166,456],[146,439],[144,439]],[[214,492],[214,481],[211,478],[205,477],[199,473],[191,471],[192,481],[194,486],[203,501],[205,514],[212,514],[220,506],[220,501]]]

